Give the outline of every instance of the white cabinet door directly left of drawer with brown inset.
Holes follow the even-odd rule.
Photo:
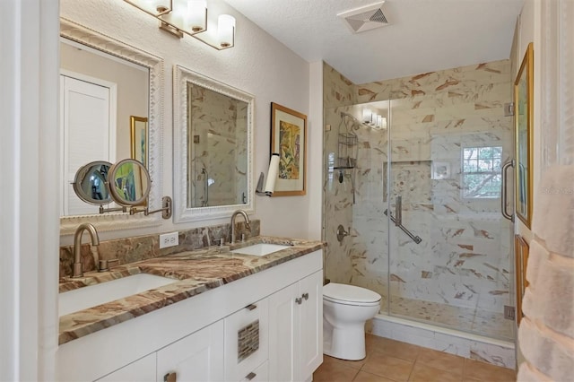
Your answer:
[[[157,352],[158,382],[170,373],[176,381],[223,380],[223,321],[204,327]]]

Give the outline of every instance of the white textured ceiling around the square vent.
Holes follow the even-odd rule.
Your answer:
[[[225,1],[306,61],[366,83],[509,58],[525,0],[387,0],[389,25],[356,34],[337,13],[376,1]]]

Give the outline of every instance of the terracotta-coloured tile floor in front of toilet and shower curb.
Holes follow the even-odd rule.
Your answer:
[[[516,372],[446,352],[367,334],[364,360],[324,356],[315,382],[509,382]]]

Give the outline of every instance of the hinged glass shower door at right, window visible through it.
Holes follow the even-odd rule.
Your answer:
[[[413,109],[413,100],[391,101],[389,314],[512,339],[503,318],[513,305],[512,228],[500,214],[511,134],[448,129]]]

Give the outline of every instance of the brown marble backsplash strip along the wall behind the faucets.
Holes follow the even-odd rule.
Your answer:
[[[236,223],[238,232],[247,232],[249,237],[259,236],[261,221],[251,220],[251,231],[245,230],[243,221]],[[230,224],[219,224],[193,230],[179,231],[179,245],[176,247],[160,248],[159,236],[144,235],[126,239],[101,241],[100,246],[92,248],[88,244],[82,246],[83,272],[95,271],[98,260],[119,259],[119,265],[154,257],[167,256],[179,252],[190,251],[202,247],[214,246],[219,239],[225,238],[230,242]],[[74,264],[74,247],[60,247],[60,277],[72,275]]]

